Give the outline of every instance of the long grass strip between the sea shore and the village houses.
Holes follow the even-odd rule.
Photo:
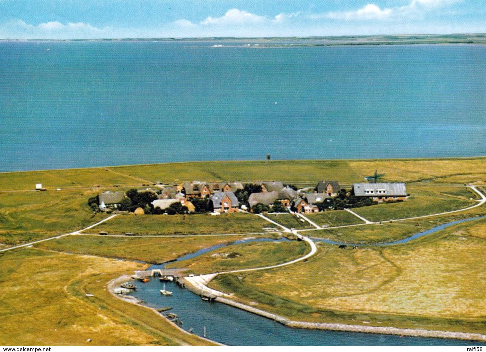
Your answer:
[[[198,161],[0,173],[0,191],[33,190],[36,183],[50,189],[98,185],[107,188],[188,180],[281,180],[314,185],[322,179],[336,179],[342,184],[352,184],[363,182],[364,177],[373,175],[375,170],[385,174],[382,180],[388,182],[486,183],[486,158]]]

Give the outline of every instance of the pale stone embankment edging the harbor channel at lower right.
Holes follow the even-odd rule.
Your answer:
[[[316,330],[332,330],[332,331],[349,331],[354,333],[368,333],[368,334],[387,334],[387,335],[403,335],[403,336],[416,336],[416,337],[438,337],[438,338],[455,338],[460,340],[474,340],[474,341],[486,341],[485,334],[473,334],[473,333],[454,333],[449,331],[437,331],[437,330],[423,330],[423,329],[399,329],[394,327],[382,327],[382,326],[367,326],[367,325],[349,325],[349,324],[331,324],[331,323],[311,323],[306,321],[291,321],[285,317],[278,316],[269,312],[262,311],[261,309],[251,307],[249,305],[235,302],[231,299],[223,297],[217,297],[215,299],[218,302],[231,305],[236,308],[243,309],[247,312],[258,314],[262,317],[266,317],[279,323],[288,326],[289,328],[299,329],[316,329]]]

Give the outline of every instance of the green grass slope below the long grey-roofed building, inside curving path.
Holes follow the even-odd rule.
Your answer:
[[[444,193],[447,190],[457,192],[456,188],[413,187],[407,189],[410,197],[404,202],[380,203],[369,207],[355,208],[353,211],[369,221],[376,222],[454,211],[476,204],[469,200],[469,197]],[[469,194],[473,197],[472,193],[469,192]]]

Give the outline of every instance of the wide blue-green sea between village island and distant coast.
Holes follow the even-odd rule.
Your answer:
[[[259,43],[0,42],[0,171],[486,155],[486,46]]]

